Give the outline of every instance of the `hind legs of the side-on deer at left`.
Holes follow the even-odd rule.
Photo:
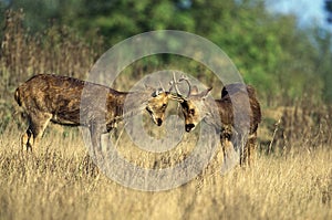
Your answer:
[[[51,118],[48,113],[29,116],[29,128],[21,137],[22,149],[32,151],[37,147]]]

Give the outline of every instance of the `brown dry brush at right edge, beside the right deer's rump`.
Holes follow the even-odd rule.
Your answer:
[[[294,148],[312,150],[332,143],[332,106],[313,105],[303,98],[293,106],[263,109],[261,150],[288,155]]]

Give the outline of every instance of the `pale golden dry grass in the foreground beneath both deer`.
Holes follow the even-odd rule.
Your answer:
[[[194,180],[144,192],[101,174],[75,129],[49,129],[34,154],[20,149],[21,132],[12,126],[0,138],[0,219],[332,219],[331,146],[257,154],[251,168],[225,176],[219,147]],[[142,157],[133,156],[151,163]]]

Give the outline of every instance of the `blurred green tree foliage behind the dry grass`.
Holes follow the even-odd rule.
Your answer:
[[[293,15],[270,14],[260,0],[17,0],[11,7],[24,9],[23,25],[32,34],[44,32],[48,27],[68,27],[87,42],[101,34],[105,39],[104,51],[152,30],[196,33],[219,45],[268,104],[273,104],[272,99],[274,104],[292,103],[303,94],[332,102],[331,34],[322,34],[324,30],[299,30]],[[56,45],[61,40],[53,41]],[[143,70],[153,65],[149,70],[155,70],[168,64],[198,77],[206,73],[195,62],[165,55],[135,66]]]

